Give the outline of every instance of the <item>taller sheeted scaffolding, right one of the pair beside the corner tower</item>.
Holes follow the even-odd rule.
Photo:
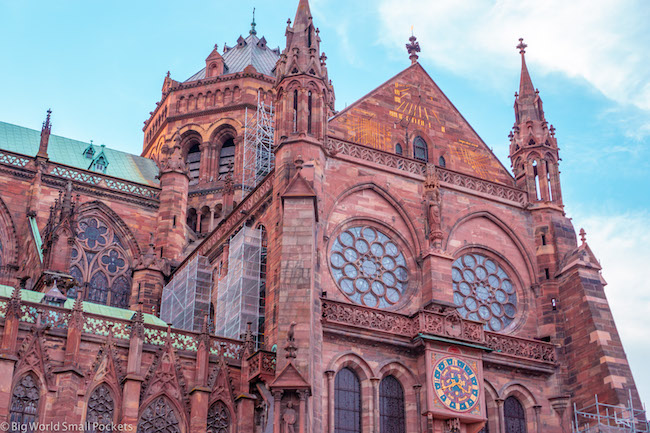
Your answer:
[[[243,338],[247,324],[259,333],[262,230],[242,227],[230,240],[226,284],[218,288],[216,334]]]

